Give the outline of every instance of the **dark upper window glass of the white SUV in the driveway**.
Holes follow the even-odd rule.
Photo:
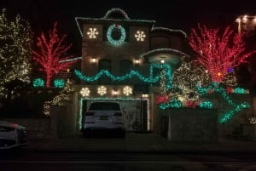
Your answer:
[[[109,110],[109,111],[119,111],[120,107],[118,103],[112,102],[94,102],[90,105],[89,110]]]

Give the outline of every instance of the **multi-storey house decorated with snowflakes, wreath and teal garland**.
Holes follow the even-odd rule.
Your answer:
[[[76,72],[81,82],[75,85],[79,117],[94,100],[119,101],[127,130],[160,129],[155,105],[160,79],[154,79],[160,77],[163,63],[171,68],[166,79],[172,77],[186,56],[186,34],[154,27],[154,20],[130,19],[122,9],[110,9],[102,18],[75,20],[83,38],[81,71]]]

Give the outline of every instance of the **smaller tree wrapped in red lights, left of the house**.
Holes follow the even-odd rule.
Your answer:
[[[72,44],[65,45],[64,40],[67,35],[59,37],[57,31],[57,22],[55,22],[53,30],[49,30],[49,37],[44,32],[37,38],[38,51],[32,51],[33,60],[36,60],[41,67],[39,71],[46,74],[46,87],[50,87],[50,81],[60,71],[67,70],[78,60],[69,60],[72,55],[67,55],[67,50]]]

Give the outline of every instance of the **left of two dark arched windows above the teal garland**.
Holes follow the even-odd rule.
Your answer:
[[[99,60],[98,71],[102,71],[102,70],[107,70],[111,73],[111,60],[108,60],[108,59]],[[111,78],[109,78],[106,75],[103,75],[102,77],[99,78],[98,83],[110,84]]]

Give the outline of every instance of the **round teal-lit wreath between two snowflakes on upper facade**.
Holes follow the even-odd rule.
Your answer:
[[[125,28],[118,24],[111,25],[108,27],[107,38],[108,42],[113,44],[114,46],[120,46],[125,42]]]

